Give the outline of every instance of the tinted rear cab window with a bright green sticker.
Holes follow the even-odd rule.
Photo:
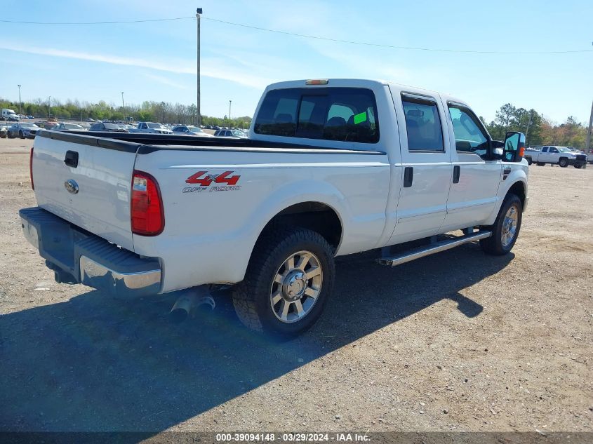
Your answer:
[[[270,90],[253,130],[262,135],[377,143],[375,95],[366,88]]]

